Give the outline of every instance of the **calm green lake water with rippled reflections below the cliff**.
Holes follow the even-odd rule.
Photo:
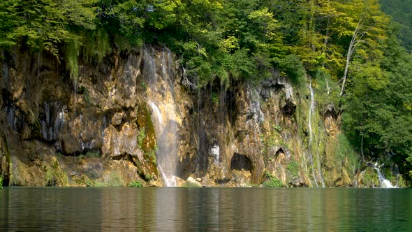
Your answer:
[[[411,231],[412,189],[0,190],[0,231]]]

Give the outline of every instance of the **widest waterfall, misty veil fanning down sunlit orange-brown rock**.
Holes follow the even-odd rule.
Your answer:
[[[157,55],[151,47],[143,49],[144,72],[149,81],[147,103],[152,109],[152,122],[156,132],[158,170],[164,184],[167,187],[175,187],[177,186],[177,114],[172,80],[172,56],[167,48],[159,53],[160,55]]]

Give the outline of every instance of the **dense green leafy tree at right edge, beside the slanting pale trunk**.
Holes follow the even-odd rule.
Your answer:
[[[393,35],[393,34],[392,34]],[[391,36],[384,58],[359,66],[343,115],[353,143],[374,158],[392,157],[402,173],[412,168],[412,57]]]

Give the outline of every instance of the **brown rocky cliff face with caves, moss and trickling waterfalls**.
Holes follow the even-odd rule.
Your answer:
[[[274,71],[252,85],[184,85],[165,48],[113,52],[101,64],[16,50],[1,64],[1,173],[29,186],[349,186],[354,160],[316,81]],[[77,79],[77,80],[76,80]],[[309,78],[308,78],[309,80]],[[344,147],[345,148],[345,147]],[[345,148],[346,149],[346,148]],[[193,180],[193,179],[191,179]]]

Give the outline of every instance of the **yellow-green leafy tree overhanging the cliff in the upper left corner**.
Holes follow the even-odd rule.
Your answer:
[[[59,43],[78,39],[76,27],[94,29],[95,0],[6,0],[0,3],[0,46],[24,41],[57,55]]]

